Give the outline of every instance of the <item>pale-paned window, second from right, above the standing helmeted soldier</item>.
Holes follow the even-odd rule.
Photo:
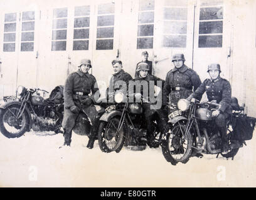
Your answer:
[[[186,47],[187,0],[164,1],[163,47]]]

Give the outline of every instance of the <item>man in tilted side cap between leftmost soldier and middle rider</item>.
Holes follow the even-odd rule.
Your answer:
[[[112,96],[114,91],[117,90],[122,90],[123,93],[126,93],[128,89],[128,83],[132,80],[132,76],[129,73],[126,73],[124,69],[122,69],[122,61],[113,60],[112,66],[114,74],[109,81],[109,96]],[[123,91],[124,88],[126,89],[125,91]]]

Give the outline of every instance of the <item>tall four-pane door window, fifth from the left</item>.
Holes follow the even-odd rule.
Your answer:
[[[115,4],[100,4],[97,18],[96,50],[113,49]]]

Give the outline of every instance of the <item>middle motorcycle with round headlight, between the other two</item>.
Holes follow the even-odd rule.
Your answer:
[[[136,99],[141,103],[134,103],[135,96],[136,94],[125,95],[117,92],[114,94],[114,103],[109,104],[105,109],[105,113],[100,118],[98,134],[99,146],[103,152],[119,153],[123,146],[130,147],[132,150],[144,150],[146,144],[151,148],[159,147],[162,133],[159,131],[156,120],[152,121],[154,139],[147,141],[145,138],[147,131],[142,102],[150,102],[139,94]],[[131,99],[132,101],[129,101]],[[157,113],[157,110],[155,112]]]

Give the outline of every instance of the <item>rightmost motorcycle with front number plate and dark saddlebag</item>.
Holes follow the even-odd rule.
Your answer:
[[[236,99],[236,98],[235,98]],[[237,103],[238,105],[238,103]],[[244,106],[237,106],[233,114],[227,120],[227,138],[229,150],[221,151],[221,136],[211,113],[218,108],[219,104],[204,102],[195,98],[189,102],[186,99],[179,99],[177,109],[169,114],[168,132],[164,136],[162,152],[169,163],[187,163],[191,156],[196,154],[221,154],[224,158],[234,158],[238,149],[246,145],[245,140],[252,139],[255,127],[255,118],[247,117],[244,114]],[[212,108],[212,109],[211,109]],[[248,126],[243,128],[249,136],[243,136],[238,121],[247,122]],[[244,123],[242,123],[244,124]],[[235,144],[235,145],[233,145]]]

